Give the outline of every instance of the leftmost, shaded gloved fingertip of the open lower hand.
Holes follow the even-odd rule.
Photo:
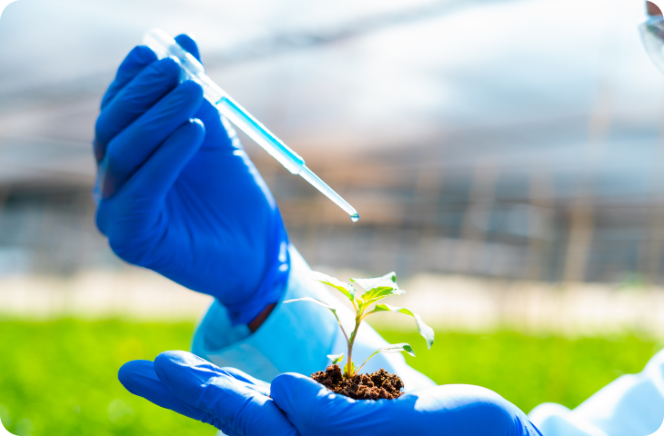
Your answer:
[[[201,411],[191,404],[180,400],[156,376],[153,363],[150,361],[126,362],[117,372],[117,378],[127,391],[134,395],[154,402],[157,406],[198,421],[214,421],[209,413]]]

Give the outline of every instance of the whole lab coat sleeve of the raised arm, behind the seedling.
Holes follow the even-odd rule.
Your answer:
[[[282,301],[267,317],[257,332],[246,325],[232,326],[226,309],[213,302],[199,322],[192,342],[192,352],[217,366],[237,368],[259,380],[272,381],[282,372],[310,375],[325,370],[330,364],[327,354],[347,352],[344,338],[332,312],[312,302],[283,301],[313,297],[337,307],[337,314],[346,331],[352,331],[353,312],[327,286],[314,282],[297,272],[308,270],[307,263],[289,247],[291,272]],[[361,364],[387,342],[363,322],[353,349],[353,361]],[[405,391],[433,386],[427,376],[410,368],[404,357],[380,353],[365,366],[367,372],[385,368],[396,373],[406,386]]]

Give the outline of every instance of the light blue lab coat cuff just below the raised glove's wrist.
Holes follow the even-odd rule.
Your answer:
[[[308,269],[292,246],[289,251],[291,270]],[[302,297],[338,305],[329,292],[291,271],[286,292],[256,332],[245,324],[232,325],[226,308],[213,302],[196,329],[192,352],[217,366],[232,366],[264,381],[281,372],[319,371],[326,367],[327,354],[341,333],[326,308],[310,302],[284,303]]]

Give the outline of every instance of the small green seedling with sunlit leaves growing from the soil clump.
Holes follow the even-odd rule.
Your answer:
[[[417,313],[413,313],[408,309],[406,309],[405,307],[393,307],[385,303],[378,303],[380,300],[383,300],[384,298],[387,298],[392,295],[401,295],[402,293],[405,292],[398,288],[397,274],[395,274],[394,272],[389,272],[388,274],[382,277],[376,277],[373,279],[350,279],[349,283],[340,282],[334,277],[330,277],[322,272],[316,272],[316,271],[301,271],[301,272],[310,279],[313,279],[317,282],[325,283],[328,286],[337,289],[337,291],[343,293],[346,296],[346,298],[350,300],[350,302],[353,304],[353,307],[355,308],[355,315],[356,315],[355,329],[353,330],[353,332],[350,333],[350,336],[348,336],[346,330],[344,329],[344,326],[341,325],[341,321],[339,320],[339,317],[337,315],[337,308],[330,306],[329,304],[327,304],[327,302],[321,302],[320,300],[311,297],[303,297],[303,298],[297,298],[294,300],[286,301],[286,302],[314,302],[319,306],[323,306],[329,309],[330,312],[332,312],[335,315],[339,327],[341,327],[341,332],[344,333],[344,337],[346,338],[346,343],[348,346],[347,361],[346,364],[344,365],[344,371],[343,371],[343,377],[345,379],[352,379],[353,377],[357,376],[359,371],[362,369],[362,367],[364,367],[365,364],[367,364],[369,359],[377,355],[377,353],[379,352],[407,352],[411,356],[415,357],[415,352],[413,352],[413,348],[409,344],[405,342],[395,343],[377,349],[377,351],[371,354],[364,363],[362,363],[358,368],[356,368],[355,363],[353,363],[353,344],[355,343],[355,339],[357,337],[357,330],[359,329],[360,323],[364,321],[364,319],[367,318],[367,316],[372,313],[397,312],[412,316],[413,318],[415,318],[415,322],[418,324],[419,334],[421,334],[422,337],[427,341],[427,348],[431,349],[431,345],[434,343],[434,331],[431,329],[431,327],[429,327],[427,324],[425,324],[422,321],[422,319],[419,317]],[[361,296],[357,295],[357,288],[355,286],[356,284],[359,285],[362,288],[362,290],[364,290],[364,293],[362,293]],[[344,353],[328,355],[327,357],[332,361],[332,364],[335,365],[343,360]]]

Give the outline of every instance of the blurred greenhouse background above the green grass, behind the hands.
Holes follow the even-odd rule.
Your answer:
[[[15,1],[0,15],[0,319],[188,332],[208,303],[117,260],[94,222],[101,95],[159,27],[195,35],[216,83],[357,208],[352,223],[243,137],[315,268],[396,271],[443,332],[645,341],[574,406],[664,337],[664,76],[644,19],[641,0]]]

